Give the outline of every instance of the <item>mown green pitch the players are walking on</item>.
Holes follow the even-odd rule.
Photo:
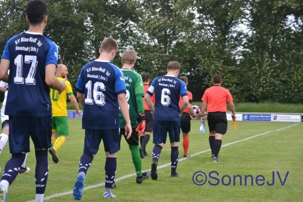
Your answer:
[[[126,178],[116,182],[117,188],[113,193],[118,196],[115,199],[103,199],[104,187],[96,187],[84,191],[81,201],[302,201],[301,187],[303,185],[301,171],[303,167],[303,139],[301,131],[303,124],[298,124],[288,129],[277,129],[293,125],[293,123],[264,123],[264,122],[238,122],[239,130],[233,128],[229,122],[228,133],[223,137],[223,145],[242,140],[257,134],[273,131],[262,136],[237,142],[220,150],[219,163],[213,163],[211,153],[197,155],[178,163],[177,172],[180,178],[170,177],[170,166],[158,170],[158,180],[145,180],[142,184],[136,184],[135,177]],[[189,154],[209,149],[208,135],[198,133],[199,121],[192,121],[190,132]],[[84,130],[81,129],[80,119],[69,119],[70,135],[64,146],[59,150],[61,162],[54,164],[48,157],[49,175],[45,196],[62,193],[73,189],[78,174],[79,159],[83,151]],[[152,138],[151,138],[152,139]],[[33,151],[33,145],[31,144]],[[147,144],[148,157],[142,159],[143,170],[150,169],[151,141]],[[170,162],[170,148],[166,144],[162,149],[159,166]],[[100,145],[99,153],[95,156],[92,166],[86,176],[85,186],[102,183],[105,180],[104,166],[105,155],[103,145]],[[180,159],[183,156],[182,138],[179,146]],[[0,166],[3,168],[10,159],[9,146],[2,151]],[[126,141],[122,138],[121,151],[117,155],[116,179],[124,175],[133,174],[134,167],[130,150]],[[31,152],[28,155],[27,167],[32,172],[18,175],[15,182],[9,187],[8,201],[28,201],[35,197],[35,157]],[[217,171],[223,175],[264,175],[267,181],[271,180],[272,171],[279,171],[285,176],[290,171],[285,186],[279,184],[276,176],[276,184],[272,187],[265,186],[223,186],[213,187],[209,184],[195,186],[192,175],[196,171]],[[284,177],[282,176],[282,179]],[[215,181],[212,180],[214,183]],[[72,194],[52,198],[48,201],[75,201]]]

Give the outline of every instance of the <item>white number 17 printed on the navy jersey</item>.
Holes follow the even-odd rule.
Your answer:
[[[22,77],[22,67],[23,67],[23,56],[18,55],[14,60],[15,65],[17,66],[16,69],[16,76],[14,77],[14,83],[16,84],[24,84],[24,78]],[[30,64],[30,69],[28,72],[27,77],[25,78],[25,84],[26,85],[35,85],[36,80],[34,79],[36,74],[36,68],[37,68],[37,56],[25,56],[24,57],[24,63]]]

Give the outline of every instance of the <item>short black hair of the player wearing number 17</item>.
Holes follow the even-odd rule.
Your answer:
[[[47,16],[47,6],[41,0],[33,0],[26,5],[26,15],[31,25],[40,24]]]

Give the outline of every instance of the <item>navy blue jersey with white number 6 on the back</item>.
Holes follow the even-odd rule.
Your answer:
[[[180,107],[179,99],[187,95],[184,81],[174,76],[161,76],[151,82],[146,91],[150,96],[155,93],[155,114],[154,120],[179,121]]]

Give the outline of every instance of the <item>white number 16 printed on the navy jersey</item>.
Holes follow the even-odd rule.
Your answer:
[[[92,105],[95,103],[99,106],[104,106],[105,101],[105,95],[102,91],[105,91],[105,85],[102,82],[95,82],[93,85],[93,89],[91,89],[92,82],[88,81],[85,85],[87,89],[87,97],[85,98],[84,102],[87,105]]]

